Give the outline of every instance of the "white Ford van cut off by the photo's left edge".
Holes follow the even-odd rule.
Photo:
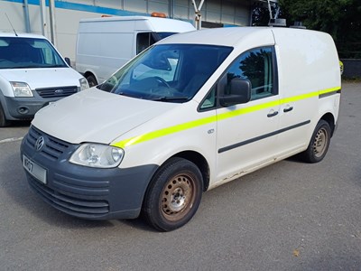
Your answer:
[[[32,119],[40,108],[88,89],[45,37],[0,33],[0,127]]]

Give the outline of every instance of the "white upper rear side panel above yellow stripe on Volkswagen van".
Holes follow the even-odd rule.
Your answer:
[[[328,33],[273,29],[279,51],[280,89],[287,96],[339,87],[338,52]],[[292,89],[292,90],[289,90]]]

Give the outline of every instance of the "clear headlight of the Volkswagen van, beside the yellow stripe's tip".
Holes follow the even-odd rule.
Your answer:
[[[87,143],[80,145],[69,162],[90,167],[111,168],[122,162],[124,150],[109,145]]]

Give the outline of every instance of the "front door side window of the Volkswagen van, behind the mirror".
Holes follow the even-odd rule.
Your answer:
[[[245,51],[227,70],[220,80],[225,84],[225,95],[230,89],[232,79],[248,79],[251,82],[251,100],[270,97],[277,94],[274,82],[273,48],[264,47]]]

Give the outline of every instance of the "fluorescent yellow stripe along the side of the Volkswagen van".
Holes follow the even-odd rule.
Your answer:
[[[186,123],[182,123],[176,126],[170,126],[170,127],[166,127],[166,128],[162,128],[153,132],[149,132],[143,135],[138,135],[138,136],[134,136],[119,142],[116,142],[115,144],[113,144],[114,146],[117,147],[126,147],[126,146],[130,146],[130,145],[136,145],[145,141],[149,141],[149,140],[153,140],[155,138],[158,137],[162,137],[165,135],[171,135],[174,133],[178,133],[180,131],[184,131],[184,130],[188,130],[190,128],[194,128],[197,126],[204,126],[206,124],[212,123],[212,122],[216,122],[218,120],[223,120],[223,119],[227,119],[230,117],[236,117],[236,116],[240,116],[240,115],[245,115],[251,112],[255,112],[258,110],[262,110],[268,107],[274,107],[274,106],[278,106],[278,105],[282,105],[285,103],[289,103],[289,102],[293,102],[293,101],[297,101],[297,100],[301,100],[301,99],[306,99],[306,98],[312,98],[315,96],[319,96],[325,93],[329,93],[329,92],[333,92],[333,91],[337,91],[341,89],[340,87],[337,88],[332,88],[332,89],[323,89],[323,90],[319,90],[319,91],[315,91],[315,92],[310,92],[307,94],[302,94],[299,96],[294,96],[294,97],[290,97],[290,98],[282,98],[279,100],[274,100],[274,101],[270,101],[264,104],[260,104],[260,105],[255,105],[253,107],[245,107],[245,108],[240,108],[237,110],[233,110],[233,111],[229,111],[229,112],[225,112],[222,114],[219,114],[218,116],[211,116],[211,117],[203,117],[203,118],[199,118],[197,120],[192,120]]]

